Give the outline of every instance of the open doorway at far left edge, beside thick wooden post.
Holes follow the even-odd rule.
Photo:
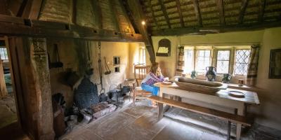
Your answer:
[[[0,135],[1,137],[9,134],[17,136],[22,131],[8,36],[0,36],[0,58]]]

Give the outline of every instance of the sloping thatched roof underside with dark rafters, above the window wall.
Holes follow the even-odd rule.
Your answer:
[[[280,0],[141,0],[141,4],[154,35],[176,34],[175,29],[281,26]]]

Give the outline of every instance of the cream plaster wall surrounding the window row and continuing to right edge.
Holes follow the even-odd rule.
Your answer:
[[[158,41],[168,38],[171,41],[171,57],[157,57],[162,63],[164,76],[173,77],[176,70],[176,48],[178,45],[252,45],[261,44],[256,88],[260,106],[250,106],[249,112],[256,113],[256,123],[281,130],[280,79],[268,79],[270,50],[281,48],[281,27],[258,31],[240,31],[223,34],[186,35],[186,36],[153,36],[152,41],[157,51]],[[163,66],[163,64],[165,66]],[[163,69],[164,68],[164,69]],[[201,103],[199,103],[201,104]],[[215,107],[216,108],[216,107]]]

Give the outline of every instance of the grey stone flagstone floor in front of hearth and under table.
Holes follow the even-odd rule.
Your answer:
[[[207,127],[187,123],[188,119],[202,121]],[[197,120],[195,119],[197,118]],[[209,127],[211,128],[209,128]],[[242,139],[280,139],[254,126]],[[259,130],[260,129],[260,130]],[[138,102],[131,102],[113,113],[98,118],[93,122],[79,123],[72,131],[60,137],[61,140],[221,140],[226,139],[226,125],[214,118],[204,118],[188,111],[172,108],[165,113],[162,120],[157,121],[157,109]],[[233,130],[234,127],[233,127]],[[279,132],[277,132],[279,133]]]

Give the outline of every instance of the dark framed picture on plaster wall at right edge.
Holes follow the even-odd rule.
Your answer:
[[[270,50],[268,78],[281,78],[281,49]]]

